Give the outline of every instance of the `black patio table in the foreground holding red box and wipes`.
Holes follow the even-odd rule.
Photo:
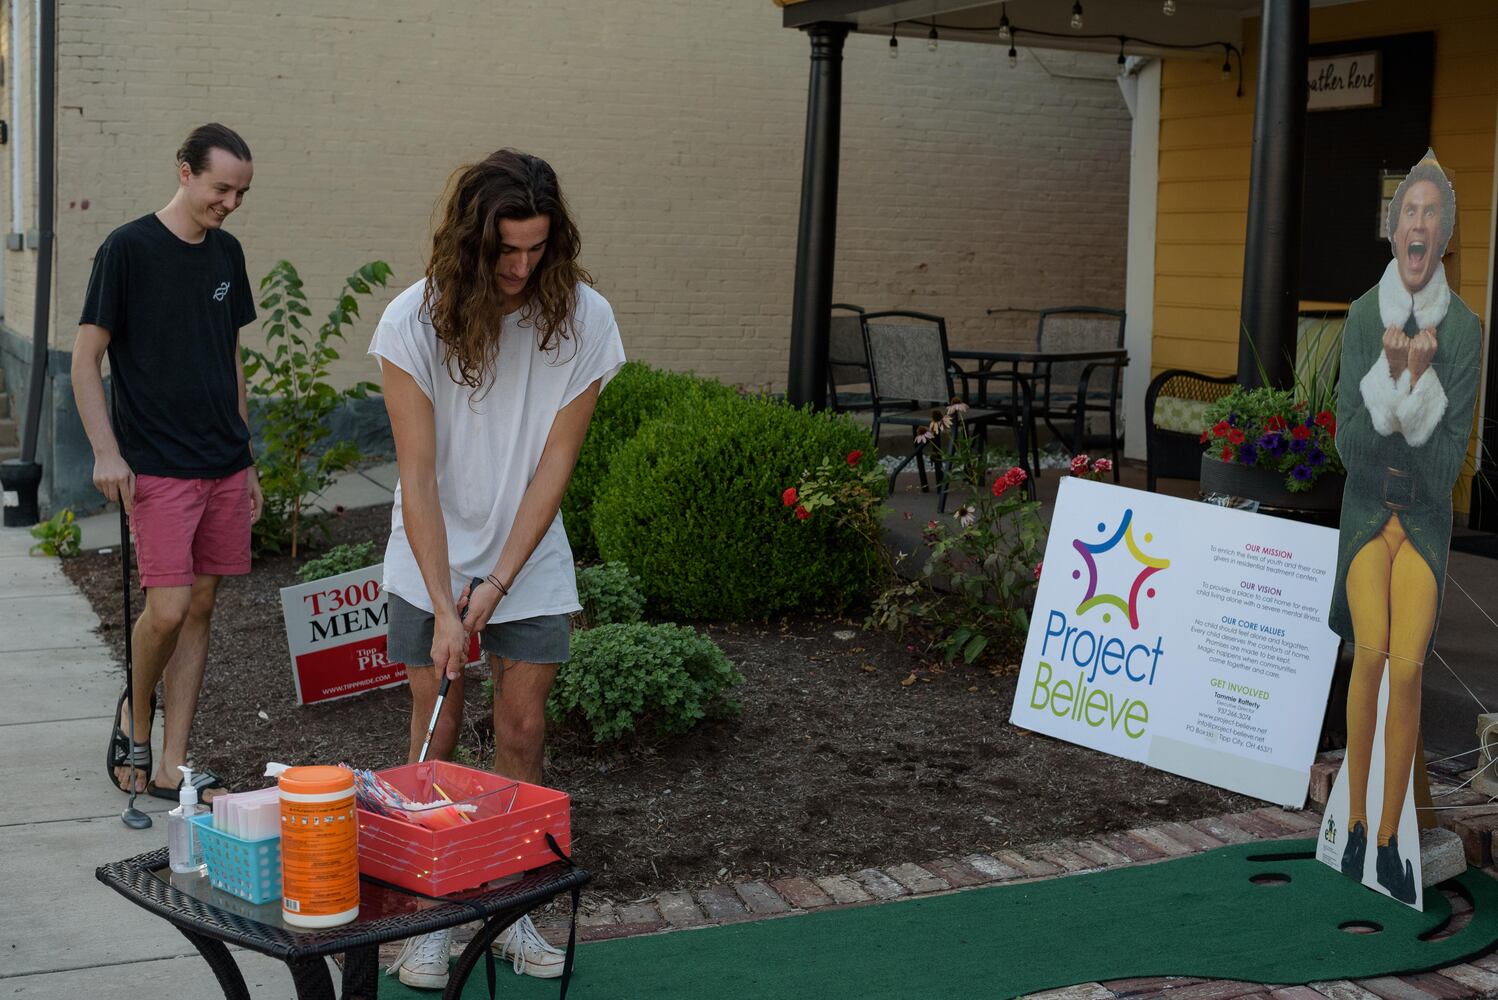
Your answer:
[[[481,919],[482,930],[458,957],[442,994],[457,997],[500,931],[562,892],[571,891],[575,900],[577,889],[590,877],[583,868],[559,861],[515,880],[442,898],[361,877],[360,915],[352,924],[301,930],[282,922],[280,900],[256,906],[214,889],[204,874],[172,873],[165,847],[102,865],[96,876],[130,903],[181,931],[208,961],[229,1000],[249,1000],[250,994],[228,945],[286,963],[301,1000],[333,1000],[333,978],[325,958],[343,952],[342,996],[346,1000],[374,1000],[379,945]]]

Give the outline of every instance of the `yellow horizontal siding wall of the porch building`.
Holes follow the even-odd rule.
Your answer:
[[[1258,21],[1245,22],[1243,97],[1215,61],[1167,60],[1159,94],[1153,370],[1237,368]],[[1488,319],[1498,3],[1366,0],[1311,12],[1311,40],[1435,31],[1431,145],[1461,207],[1462,299]],[[1368,275],[1372,286],[1377,274]]]

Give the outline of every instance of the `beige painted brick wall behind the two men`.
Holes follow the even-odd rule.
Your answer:
[[[255,153],[229,223],[252,278],[289,257],[316,313],[372,257],[416,280],[449,172],[512,145],[557,168],[632,356],[780,388],[809,45],[779,21],[761,0],[61,0],[52,343],[72,344],[99,241],[163,205],[181,136],[220,120]],[[834,296],[942,313],[956,344],[1028,335],[986,307],[1122,305],[1112,73],[1112,57],[1023,52],[1011,70],[998,46],[911,39],[891,61],[885,39],[849,37]],[[12,329],[28,274],[4,271]],[[367,377],[386,299],[340,379]]]

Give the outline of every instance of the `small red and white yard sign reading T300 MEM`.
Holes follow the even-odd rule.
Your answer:
[[[282,588],[298,705],[404,683],[404,665],[385,657],[389,609],[380,587],[383,578],[380,563]],[[469,660],[476,659],[478,636],[473,636]]]

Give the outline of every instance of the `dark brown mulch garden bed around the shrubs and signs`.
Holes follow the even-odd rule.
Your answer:
[[[354,510],[333,522],[333,542],[383,540],[388,524],[388,506]],[[118,558],[88,552],[63,566],[123,657]],[[279,594],[295,582],[282,555],[220,588],[192,747],[235,789],[264,784],[267,760],[404,763],[404,689],[297,707]],[[550,737],[547,783],[572,796],[575,852],[596,897],[839,874],[1257,805],[1016,729],[1013,674],[942,666],[918,642],[857,621],[697,627],[743,672],[742,717],[662,746]],[[493,760],[472,681],[460,750]]]

